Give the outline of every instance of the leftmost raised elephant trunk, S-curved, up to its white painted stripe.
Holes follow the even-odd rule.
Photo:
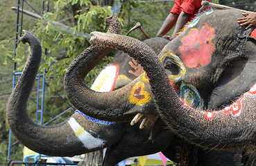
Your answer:
[[[31,53],[8,100],[7,119],[12,133],[29,149],[49,156],[74,156],[108,145],[108,142],[104,141],[99,146],[85,145],[86,143],[92,145],[92,142],[85,142],[86,140],[82,141],[79,138],[76,128],[79,127],[81,118],[77,113],[69,120],[51,127],[36,124],[28,116],[26,103],[40,66],[42,48],[34,35],[28,31],[24,32],[25,35],[21,40],[23,43],[28,42]]]

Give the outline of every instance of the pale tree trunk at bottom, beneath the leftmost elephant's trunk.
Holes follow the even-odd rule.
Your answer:
[[[78,163],[78,166],[99,166],[103,163],[103,149],[85,154],[85,159]]]

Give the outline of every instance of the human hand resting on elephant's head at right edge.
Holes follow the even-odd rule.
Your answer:
[[[244,12],[243,15],[246,17],[237,19],[237,23],[240,24],[240,26],[246,26],[246,29],[248,29],[256,25],[256,12]]]

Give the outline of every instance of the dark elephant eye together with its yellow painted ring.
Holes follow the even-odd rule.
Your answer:
[[[169,51],[164,51],[160,55],[160,60],[164,64],[164,68],[171,82],[179,82],[184,79],[187,68],[180,57]]]

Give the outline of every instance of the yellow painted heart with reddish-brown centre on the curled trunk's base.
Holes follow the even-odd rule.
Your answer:
[[[138,82],[133,86],[129,100],[131,103],[137,105],[146,104],[151,101],[151,93],[145,91],[145,85],[142,82]]]

